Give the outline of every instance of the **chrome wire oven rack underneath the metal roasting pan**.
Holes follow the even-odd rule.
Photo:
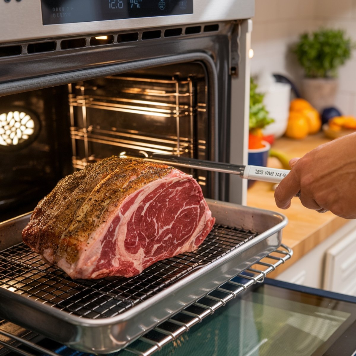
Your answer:
[[[215,310],[225,306],[227,302],[236,298],[237,295],[246,291],[249,287],[256,283],[262,283],[268,273],[274,271],[278,266],[289,260],[292,255],[293,251],[288,246],[281,244],[279,248],[269,253],[266,257],[263,257],[253,266],[248,267],[244,272],[237,274],[237,276],[230,279],[230,281],[225,282],[205,297],[184,308],[181,312],[173,315],[162,324],[159,324],[155,329],[141,336],[124,350],[115,352],[112,355],[153,355],[155,352],[160,351],[162,347],[174,340],[177,340],[180,336],[182,336],[182,334],[189,331],[192,326],[200,323],[207,316],[214,314]],[[8,342],[4,342],[1,341],[0,338],[0,345],[19,355],[59,355],[56,352],[37,345],[30,340],[26,340],[25,336],[19,337],[13,333],[2,330],[1,322],[0,336],[5,336],[9,340]],[[17,342],[17,344],[14,344],[14,342]],[[20,345],[18,345],[19,343],[27,346],[27,349],[21,349],[19,347]],[[31,349],[37,351],[37,353],[33,354],[29,352],[28,350]],[[89,354],[81,355],[84,356]]]

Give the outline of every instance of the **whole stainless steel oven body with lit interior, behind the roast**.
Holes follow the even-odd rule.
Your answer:
[[[246,163],[253,1],[0,1],[0,220],[109,155]],[[238,177],[190,170],[207,198]]]

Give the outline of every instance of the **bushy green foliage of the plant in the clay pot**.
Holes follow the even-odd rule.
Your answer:
[[[355,43],[346,38],[345,31],[330,28],[303,33],[293,52],[307,78],[335,78],[354,48]]]

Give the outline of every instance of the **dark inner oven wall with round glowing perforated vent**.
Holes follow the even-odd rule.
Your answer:
[[[33,209],[69,174],[66,87],[0,96],[0,221]]]

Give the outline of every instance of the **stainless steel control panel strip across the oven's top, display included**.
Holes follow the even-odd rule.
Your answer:
[[[244,20],[254,9],[254,0],[0,0],[0,48],[35,39]]]

